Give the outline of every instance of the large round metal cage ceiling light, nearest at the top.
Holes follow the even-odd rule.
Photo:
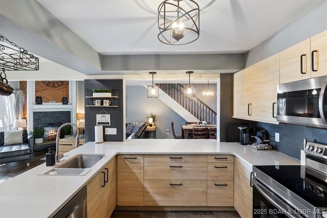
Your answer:
[[[158,7],[158,39],[171,45],[189,44],[200,35],[200,8],[193,0],[166,0]]]

